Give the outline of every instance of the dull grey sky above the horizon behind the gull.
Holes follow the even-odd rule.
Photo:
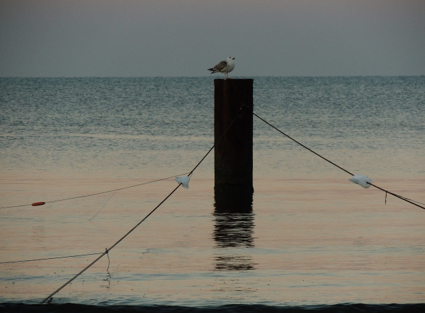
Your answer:
[[[425,75],[424,0],[0,0],[0,77]],[[221,74],[215,74],[222,77]]]

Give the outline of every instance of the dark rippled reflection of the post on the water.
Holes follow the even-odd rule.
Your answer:
[[[226,195],[215,192],[215,227],[213,238],[219,249],[215,257],[217,271],[254,270],[247,248],[254,247],[252,193]]]

